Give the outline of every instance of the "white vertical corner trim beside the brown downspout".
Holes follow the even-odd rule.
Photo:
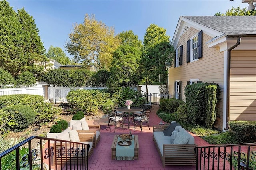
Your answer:
[[[227,77],[228,77],[228,51],[224,51],[224,75],[223,75],[223,122],[222,122],[222,130],[225,132],[224,128],[226,128],[226,117],[227,117]]]

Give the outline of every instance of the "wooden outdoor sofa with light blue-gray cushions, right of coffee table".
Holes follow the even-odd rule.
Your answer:
[[[165,165],[195,165],[194,137],[180,125],[170,128],[175,124],[177,123],[172,121],[170,125],[153,125],[153,140],[163,167]],[[167,131],[171,136],[164,135],[165,129],[173,130]]]

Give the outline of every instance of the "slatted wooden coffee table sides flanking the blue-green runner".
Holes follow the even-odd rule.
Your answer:
[[[132,142],[134,142],[134,159],[139,160],[139,140],[138,140],[138,135],[133,135],[134,139]],[[114,136],[114,140],[111,145],[111,159],[116,159],[116,145],[118,143],[118,137],[119,135]]]

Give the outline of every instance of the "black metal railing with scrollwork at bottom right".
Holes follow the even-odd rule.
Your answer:
[[[196,147],[196,170],[255,170],[256,143]]]

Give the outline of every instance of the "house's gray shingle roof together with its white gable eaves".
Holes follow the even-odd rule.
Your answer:
[[[228,37],[256,37],[256,16],[180,16],[172,38],[174,48],[190,26],[213,37],[207,42],[214,42],[209,47],[226,41]]]

